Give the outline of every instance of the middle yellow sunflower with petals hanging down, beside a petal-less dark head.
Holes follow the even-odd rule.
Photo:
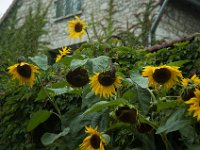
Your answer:
[[[90,85],[96,95],[110,97],[117,93],[115,88],[121,85],[121,78],[110,71],[95,73],[90,77]]]

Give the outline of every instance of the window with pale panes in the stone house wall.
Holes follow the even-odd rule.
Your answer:
[[[57,0],[56,18],[68,16],[81,10],[81,0]]]

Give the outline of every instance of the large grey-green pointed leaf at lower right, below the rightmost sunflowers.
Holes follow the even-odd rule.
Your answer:
[[[156,134],[160,134],[162,132],[169,133],[190,125],[191,120],[183,119],[184,113],[185,108],[179,108],[167,119],[163,125],[157,129]]]

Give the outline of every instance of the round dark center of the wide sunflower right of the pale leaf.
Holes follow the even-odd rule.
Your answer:
[[[171,72],[167,68],[156,69],[153,73],[153,79],[159,84],[164,84],[169,81]]]

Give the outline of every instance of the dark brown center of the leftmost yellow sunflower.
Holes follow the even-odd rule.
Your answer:
[[[18,65],[17,72],[25,78],[31,77],[31,67],[29,65],[26,65],[26,64],[23,66]]]

